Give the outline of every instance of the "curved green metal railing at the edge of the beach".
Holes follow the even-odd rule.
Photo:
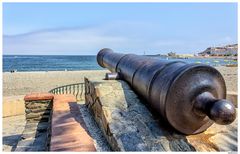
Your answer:
[[[75,83],[54,88],[49,91],[52,94],[72,94],[77,101],[84,100],[84,83]]]

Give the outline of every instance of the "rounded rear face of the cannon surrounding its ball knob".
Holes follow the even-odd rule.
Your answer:
[[[170,125],[184,134],[198,134],[209,128],[213,121],[194,112],[194,100],[203,92],[209,92],[217,99],[225,99],[224,79],[211,66],[190,65],[168,89],[164,111]]]

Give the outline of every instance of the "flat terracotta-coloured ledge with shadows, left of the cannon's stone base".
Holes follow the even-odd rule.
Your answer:
[[[50,151],[96,151],[73,95],[55,95]]]

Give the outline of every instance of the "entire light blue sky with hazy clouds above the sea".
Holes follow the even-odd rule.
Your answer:
[[[3,3],[3,54],[198,53],[237,43],[237,3]]]

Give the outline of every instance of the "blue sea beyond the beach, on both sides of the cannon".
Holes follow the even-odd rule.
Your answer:
[[[185,61],[187,63],[207,64],[211,66],[236,65],[236,60],[224,58],[188,58],[176,59],[154,56],[153,58],[168,61]],[[97,64],[96,56],[66,55],[3,55],[3,72],[31,71],[77,71],[102,70]]]

